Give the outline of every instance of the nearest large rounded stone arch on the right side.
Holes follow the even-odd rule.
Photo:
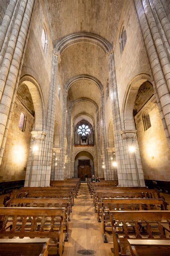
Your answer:
[[[135,76],[127,86],[122,108],[122,127],[127,131],[135,130],[133,118],[134,102],[139,87],[142,85],[142,83],[146,81],[149,81],[151,83],[150,75],[146,73],[141,73]]]

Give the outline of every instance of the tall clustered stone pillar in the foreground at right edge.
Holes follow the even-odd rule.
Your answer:
[[[166,47],[162,42],[163,37],[160,36],[161,32],[166,31],[164,37],[167,36],[166,39],[169,41],[168,32],[170,29],[169,24],[167,23],[167,19],[165,18],[165,13],[162,12],[161,14],[162,9],[159,8],[158,5],[160,1],[154,1],[153,3],[155,3],[155,10],[157,10],[157,15],[160,18],[162,15],[161,23],[159,24],[154,18],[152,6],[148,0],[134,0],[148,58],[151,65],[151,70],[156,84],[156,99],[157,96],[159,98],[159,100],[157,100],[157,104],[159,106],[160,112],[163,112],[163,115],[161,113],[160,114],[167,141],[170,146],[170,65],[168,60],[169,56],[167,56],[169,49],[165,51]],[[160,24],[163,26],[162,30],[158,30]]]

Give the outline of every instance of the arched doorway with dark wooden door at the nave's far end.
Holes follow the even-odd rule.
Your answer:
[[[85,174],[88,178],[94,174],[94,159],[87,151],[81,151],[75,156],[74,161],[74,178],[80,178],[85,181]]]

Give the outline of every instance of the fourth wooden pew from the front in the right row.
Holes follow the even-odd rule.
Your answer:
[[[165,198],[160,195],[160,192],[157,189],[148,189],[145,187],[116,187],[116,188],[110,188],[110,189],[98,189],[96,188],[94,191],[94,197],[93,197],[93,202],[95,206],[95,212],[96,212],[96,193],[107,193],[107,192],[122,192],[122,193],[127,193],[127,195],[130,192],[139,192],[142,195],[142,198]]]

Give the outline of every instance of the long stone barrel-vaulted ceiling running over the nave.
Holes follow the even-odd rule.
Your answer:
[[[67,109],[72,106],[72,120],[82,113],[90,113],[96,120],[96,106],[100,106],[101,90],[105,88],[108,77],[108,56],[99,46],[82,40],[81,33],[102,37],[113,47],[117,33],[123,0],[43,0],[53,46],[74,34],[74,42],[63,47],[60,54],[59,72],[61,83],[66,88],[76,76],[94,77],[98,86],[88,79],[73,83],[67,93]],[[79,35],[78,35],[79,34]],[[70,39],[69,39],[70,40]],[[100,40],[99,40],[100,41]],[[76,102],[73,104],[73,102]]]

